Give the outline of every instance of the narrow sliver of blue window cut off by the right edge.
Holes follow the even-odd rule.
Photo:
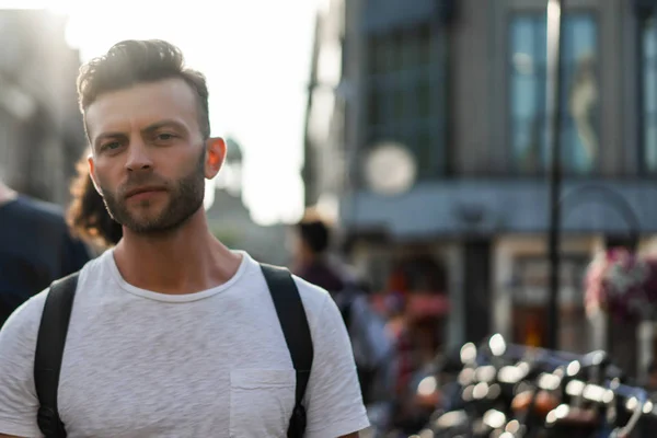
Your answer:
[[[657,172],[657,21],[655,16],[642,23],[642,162],[647,172]]]

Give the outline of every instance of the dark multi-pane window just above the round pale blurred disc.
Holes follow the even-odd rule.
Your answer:
[[[445,171],[441,38],[426,24],[371,35],[367,74],[367,146],[397,141],[418,178]]]

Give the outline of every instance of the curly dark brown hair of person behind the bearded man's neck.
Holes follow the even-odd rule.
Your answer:
[[[105,208],[105,203],[96,192],[84,153],[76,168],[78,175],[71,182],[72,200],[67,210],[67,223],[73,234],[89,243],[102,246],[113,246],[123,237],[123,228],[116,222]]]

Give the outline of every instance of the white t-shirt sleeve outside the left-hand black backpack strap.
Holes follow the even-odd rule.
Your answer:
[[[34,350],[45,295],[23,303],[0,330],[0,434],[42,437],[36,414]]]

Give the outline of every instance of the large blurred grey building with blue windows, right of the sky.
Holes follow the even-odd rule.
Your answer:
[[[566,2],[564,349],[604,343],[584,314],[591,255],[634,233],[648,246],[657,232],[653,3]],[[450,345],[493,331],[521,343],[545,341],[545,7],[546,0],[331,0],[318,14],[306,201],[339,199],[349,255],[377,289],[448,296]],[[373,154],[389,141],[403,145],[414,165],[392,154],[388,166]],[[382,194],[377,186],[387,180],[407,180],[400,169],[414,175],[412,186]]]

